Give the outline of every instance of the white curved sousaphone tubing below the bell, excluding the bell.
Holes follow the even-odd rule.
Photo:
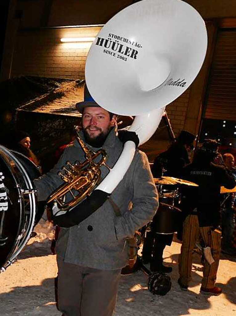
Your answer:
[[[135,117],[133,124],[128,131],[134,131],[139,137],[139,145],[145,143],[156,131],[165,107],[153,110],[143,115]],[[115,166],[110,170],[105,179],[97,186],[95,190],[102,190],[111,193],[116,186],[121,182],[125,173],[127,172],[135,154],[135,144],[128,141],[124,144],[123,151],[115,163]]]

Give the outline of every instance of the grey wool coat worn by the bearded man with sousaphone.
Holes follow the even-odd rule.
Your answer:
[[[81,133],[83,138],[83,134]],[[91,148],[97,151],[95,148]],[[107,164],[113,167],[123,144],[112,129],[103,145],[108,154]],[[66,161],[84,161],[85,155],[77,140],[65,149],[56,166],[49,173],[34,180],[38,200],[47,197],[63,183],[57,172]],[[101,167],[102,178],[108,169]],[[133,161],[110,198],[118,206],[117,216],[109,199],[79,225],[61,228],[56,242],[56,253],[65,262],[100,270],[120,269],[127,264],[126,237],[144,226],[155,215],[158,195],[145,153],[136,150]],[[73,210],[72,210],[73,211]]]

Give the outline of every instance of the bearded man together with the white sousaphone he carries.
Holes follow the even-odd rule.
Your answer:
[[[158,34],[159,30],[164,33]],[[170,33],[167,41],[166,33]],[[79,135],[88,149],[80,140],[83,149],[75,141],[57,165],[35,181],[39,199],[46,199],[62,184],[57,172],[67,160],[77,169],[75,161],[83,162],[84,152],[90,149],[97,152],[102,147],[101,152],[104,149],[108,156],[91,195],[54,219],[62,227],[56,253],[58,306],[65,316],[112,315],[120,271],[127,263],[126,237],[133,237],[158,207],[147,157],[135,144],[137,147],[153,135],[165,106],[190,86],[203,64],[206,47],[201,16],[184,1],[175,0],[128,6],[106,23],[92,43],[85,77],[97,103],[85,94],[85,101],[78,104],[82,113]],[[129,128],[132,133],[124,134],[122,141],[116,136],[116,116],[108,111],[135,115]],[[96,153],[88,152],[86,157],[93,155]],[[93,165],[95,168],[96,162]],[[112,168],[109,174],[107,167]],[[86,179],[74,184],[82,182]]]

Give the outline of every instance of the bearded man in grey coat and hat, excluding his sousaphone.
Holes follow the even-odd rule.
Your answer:
[[[82,113],[79,135],[94,152],[105,149],[106,164],[113,167],[123,149],[116,133],[116,115],[100,107],[86,87],[84,100],[77,103]],[[127,136],[123,135],[122,141],[125,140]],[[47,199],[62,184],[57,173],[68,160],[85,160],[77,140],[65,149],[49,173],[35,180],[39,200]],[[101,173],[103,179],[107,167],[102,166]],[[76,220],[68,224],[65,215],[55,217],[56,224],[67,227],[61,229],[56,243],[58,308],[64,315],[112,315],[121,268],[127,264],[126,237],[149,222],[157,207],[157,191],[147,157],[136,149],[123,180],[95,213],[79,225]]]

